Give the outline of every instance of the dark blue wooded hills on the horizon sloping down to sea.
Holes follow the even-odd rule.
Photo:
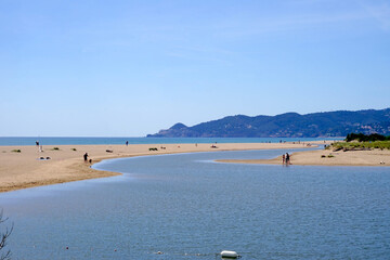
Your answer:
[[[351,132],[390,134],[390,108],[338,110],[300,115],[229,116],[187,127],[181,122],[148,134],[153,138],[317,138],[346,136]]]

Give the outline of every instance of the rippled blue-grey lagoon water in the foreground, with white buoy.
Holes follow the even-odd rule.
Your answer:
[[[212,162],[285,152],[107,160],[95,168],[123,176],[0,194],[2,225],[14,223],[9,248],[31,260],[213,260],[223,249],[243,259],[390,259],[389,168]]]

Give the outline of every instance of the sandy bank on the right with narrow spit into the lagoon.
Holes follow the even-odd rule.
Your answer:
[[[303,151],[294,153],[290,157],[292,165],[315,166],[390,166],[390,151],[349,151],[332,152],[327,150]],[[273,159],[252,160],[218,160],[234,164],[282,165],[282,155]]]

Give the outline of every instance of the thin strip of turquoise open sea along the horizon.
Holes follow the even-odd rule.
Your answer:
[[[36,145],[39,141],[42,145],[65,145],[65,144],[125,144],[128,141],[130,144],[169,144],[169,143],[264,143],[264,142],[307,142],[325,140],[306,138],[1,138],[0,146],[4,145]],[[327,140],[340,140],[340,138],[332,138]]]

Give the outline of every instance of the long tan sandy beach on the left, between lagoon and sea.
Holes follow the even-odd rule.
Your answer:
[[[216,145],[216,147],[211,147]],[[57,147],[58,150],[54,150]],[[158,151],[150,151],[156,147]],[[161,148],[164,147],[164,148]],[[37,146],[0,146],[0,192],[118,176],[117,172],[98,171],[83,161],[89,154],[92,164],[102,159],[156,154],[303,148],[298,143],[221,143],[221,144],[131,144],[131,145],[47,145],[43,152]],[[13,151],[21,150],[21,153]],[[107,152],[110,151],[110,152]],[[43,157],[44,159],[39,159]],[[50,159],[46,159],[50,157]]]

